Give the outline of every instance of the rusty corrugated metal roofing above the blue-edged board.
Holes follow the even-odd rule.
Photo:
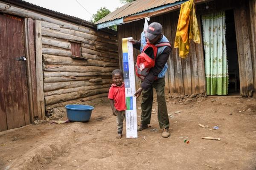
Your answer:
[[[137,14],[143,11],[147,11],[152,8],[164,6],[167,4],[172,4],[183,0],[135,0],[131,3],[127,3],[124,6],[116,9],[112,13],[108,14],[106,17],[97,21],[96,24],[105,23],[107,21],[113,21],[122,17],[127,17],[129,15]]]

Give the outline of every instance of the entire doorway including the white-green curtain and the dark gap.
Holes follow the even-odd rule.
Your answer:
[[[233,10],[202,15],[207,95],[239,95]]]

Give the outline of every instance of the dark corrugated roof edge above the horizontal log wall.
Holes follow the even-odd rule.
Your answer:
[[[41,6],[37,6],[37,5],[34,5],[32,3],[28,3],[24,0],[0,0],[0,1],[5,2],[5,3],[10,3],[10,4],[13,4],[13,5],[22,7],[22,8],[26,8],[26,9],[29,9],[29,10],[32,10],[32,11],[40,12],[42,14],[47,14],[49,16],[56,17],[56,18],[59,18],[61,20],[66,20],[66,21],[69,21],[69,22],[72,22],[72,23],[76,23],[76,24],[79,24],[81,26],[96,28],[96,25],[94,23],[89,22],[89,21],[82,20],[78,17],[73,17],[73,16],[63,14],[63,13],[60,13],[60,12],[57,12],[57,11],[53,11],[53,10],[50,10],[50,9],[47,9],[47,8],[44,8],[44,7],[41,7]],[[108,29],[108,28],[105,29],[105,31],[110,32],[112,34],[116,33],[116,31],[113,31],[113,30]]]

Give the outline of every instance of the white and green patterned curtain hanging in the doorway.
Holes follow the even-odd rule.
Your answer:
[[[226,95],[228,68],[225,12],[202,16],[207,95]]]

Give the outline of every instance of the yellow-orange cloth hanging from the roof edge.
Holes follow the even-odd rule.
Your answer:
[[[180,16],[174,42],[174,48],[179,48],[179,56],[181,58],[186,58],[187,54],[189,54],[189,44],[192,39],[195,43],[200,43],[195,3],[194,0],[189,0],[180,7]]]

